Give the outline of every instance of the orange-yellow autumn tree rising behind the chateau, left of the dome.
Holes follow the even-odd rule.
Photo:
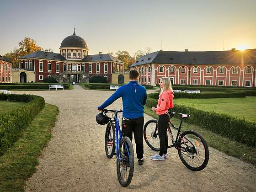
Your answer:
[[[36,44],[36,41],[30,37],[25,37],[24,40],[19,42],[20,54],[27,55],[35,51],[43,50],[40,46]]]

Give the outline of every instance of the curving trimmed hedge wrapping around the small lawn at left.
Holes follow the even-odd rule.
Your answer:
[[[2,101],[27,102],[24,107],[0,114],[0,155],[19,139],[22,131],[43,109],[45,101],[41,96],[0,94]]]

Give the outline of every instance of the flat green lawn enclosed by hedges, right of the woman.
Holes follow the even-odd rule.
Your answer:
[[[225,113],[256,122],[256,96],[218,99],[174,99],[174,104],[186,105],[203,111]]]

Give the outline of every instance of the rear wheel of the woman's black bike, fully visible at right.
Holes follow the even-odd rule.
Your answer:
[[[208,145],[199,133],[192,130],[182,133],[178,140],[178,148],[179,157],[188,169],[201,171],[208,164]]]

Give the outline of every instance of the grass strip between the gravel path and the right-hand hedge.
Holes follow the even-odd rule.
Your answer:
[[[151,111],[149,107],[145,107],[144,112],[151,117],[158,119],[158,115],[156,115],[155,112]],[[178,125],[180,124],[180,119],[172,118],[172,122],[176,127],[178,127]],[[231,155],[239,158],[240,160],[247,161],[252,165],[256,166],[256,147],[249,147],[246,144],[241,144],[237,141],[222,137],[199,126],[188,124],[186,123],[185,119],[182,123],[181,132],[184,132],[186,130],[194,130],[197,133],[200,133],[207,141],[208,146],[213,147],[214,149],[217,149],[227,155]]]

